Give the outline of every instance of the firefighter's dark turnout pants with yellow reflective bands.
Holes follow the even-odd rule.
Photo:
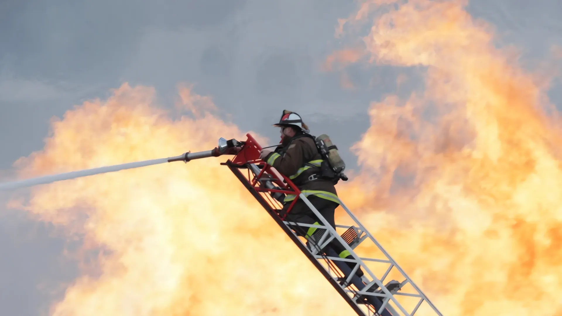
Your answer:
[[[314,195],[309,196],[307,198],[310,201],[310,203],[314,207],[316,207],[316,210],[318,210],[318,212],[322,216],[324,216],[327,222],[335,229],[336,223],[334,220],[334,213],[336,211],[336,208],[339,206],[339,204]],[[291,202],[284,204],[283,209],[280,210],[279,212],[279,215],[281,216],[285,215],[290,205]],[[287,222],[324,225],[322,221],[318,218],[318,216],[316,216],[316,214],[312,212],[310,207],[306,205],[306,203],[302,201],[300,198],[294,203],[293,208],[289,211],[287,217],[285,217],[285,220]],[[323,236],[325,232],[325,229],[316,228],[316,227],[304,227],[298,225],[289,225],[289,227],[291,227],[294,231],[296,231],[298,236],[305,237],[309,241],[310,238],[312,238],[316,242],[320,241],[320,238]],[[336,239],[333,239],[327,245],[327,247],[331,247],[334,251],[336,251],[336,253],[339,255],[340,258],[353,259],[353,256],[351,256],[350,253],[345,249],[345,247],[343,247],[341,243]],[[323,253],[324,249],[322,249],[319,252]],[[351,269],[355,267],[355,263],[346,261],[346,264],[349,265]],[[363,276],[363,272],[361,268],[357,269],[356,274],[359,277]]]

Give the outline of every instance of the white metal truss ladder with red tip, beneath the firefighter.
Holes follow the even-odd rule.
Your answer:
[[[223,165],[227,165],[232,170],[358,315],[442,316],[422,290],[415,285],[400,265],[388,255],[388,252],[341,200],[340,205],[347,215],[346,223],[350,223],[350,225],[336,225],[334,228],[288,177],[260,160],[261,146],[250,134],[247,134],[247,137],[242,150],[233,160],[228,160]],[[245,172],[242,171],[244,169],[246,169]],[[297,196],[287,209],[287,213],[300,199],[320,219],[321,224],[288,222],[284,218],[287,213],[280,216],[279,211],[283,207],[280,201],[283,201],[286,194]],[[301,237],[305,235],[302,232],[307,231],[310,227],[316,227],[317,231],[323,229],[321,236],[309,240]],[[298,236],[297,231],[301,233],[301,236]],[[340,234],[338,231],[343,231],[343,233]],[[353,259],[339,258],[334,250],[325,247],[333,240],[341,243]],[[348,263],[352,263],[353,268]],[[365,273],[361,278],[355,274],[359,268]],[[391,277],[400,281],[392,280],[384,285],[385,280]]]

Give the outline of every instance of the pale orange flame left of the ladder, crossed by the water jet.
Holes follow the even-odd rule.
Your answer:
[[[154,93],[124,84],[107,101],[66,112],[53,122],[44,150],[18,162],[21,173],[175,156],[210,150],[220,137],[245,139],[237,127],[207,111],[206,102],[197,119],[170,119],[154,104]],[[184,101],[208,100],[180,94]],[[103,249],[96,267],[89,267],[97,275],[84,270],[52,315],[350,313],[219,164],[225,160],[174,162],[34,188],[22,207],[84,236],[85,248]]]

